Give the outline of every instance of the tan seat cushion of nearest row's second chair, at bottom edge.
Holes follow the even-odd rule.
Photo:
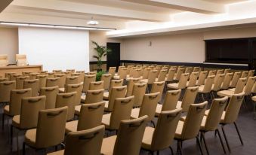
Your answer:
[[[108,138],[103,138],[100,153],[104,155],[113,155],[116,137],[116,135],[113,135]]]

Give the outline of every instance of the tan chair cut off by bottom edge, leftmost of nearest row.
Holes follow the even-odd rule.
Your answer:
[[[66,135],[65,149],[48,155],[100,155],[104,131],[104,126],[97,126],[79,132],[70,132]]]

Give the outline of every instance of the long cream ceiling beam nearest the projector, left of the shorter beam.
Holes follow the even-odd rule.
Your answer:
[[[131,11],[122,8],[111,8],[100,5],[88,5],[75,2],[52,0],[16,0],[11,5],[39,11],[55,11],[69,14],[100,15],[126,20],[143,20],[153,22],[170,21],[169,14],[156,14],[143,11]]]

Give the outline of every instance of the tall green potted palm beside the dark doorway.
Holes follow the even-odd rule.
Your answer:
[[[92,44],[95,45],[94,50],[97,51],[97,55],[94,55],[93,57],[97,59],[97,71],[102,71],[101,65],[103,64],[102,59],[103,56],[106,56],[107,53],[110,53],[112,50],[109,48],[106,48],[106,46],[100,46],[95,41],[91,41]]]

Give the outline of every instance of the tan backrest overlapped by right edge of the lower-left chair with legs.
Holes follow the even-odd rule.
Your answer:
[[[57,93],[56,108],[68,107],[66,120],[72,120],[75,115],[75,99],[76,92],[72,93]]]

